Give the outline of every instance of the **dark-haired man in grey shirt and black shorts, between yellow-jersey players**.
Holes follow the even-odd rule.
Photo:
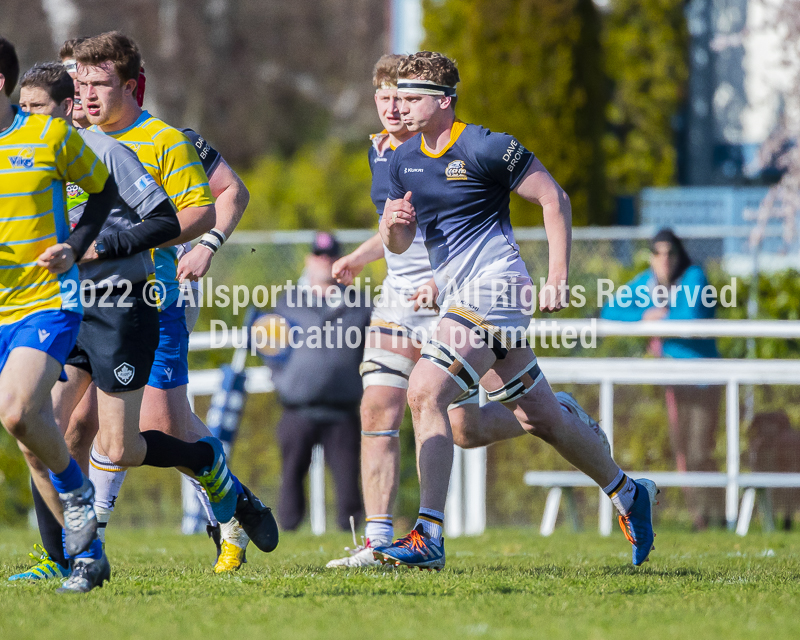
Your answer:
[[[36,65],[22,78],[20,105],[26,112],[69,122],[73,92],[73,80],[63,64]],[[153,273],[148,250],[177,238],[180,224],[167,194],[130,149],[100,133],[86,129],[79,129],[78,133],[108,168],[119,196],[100,234],[80,262],[81,295],[94,303],[84,309],[77,342],[66,362],[67,381],[53,388],[53,407],[56,421],[63,429],[93,382],[100,390],[98,403],[108,422],[106,428],[123,431],[123,422],[132,419],[129,414],[135,413],[125,411],[126,403],[136,402],[135,396],[128,394],[144,387],[158,346],[158,311],[144,299],[147,278]],[[76,225],[86,206],[86,194],[70,184],[67,196],[70,223]],[[129,378],[123,375],[127,370]],[[58,549],[53,549],[56,540],[60,543],[60,527],[56,530],[52,526],[52,514],[41,498],[49,493],[42,482],[47,481],[39,461],[30,451],[24,453],[32,478],[38,479],[44,488],[34,491],[34,505],[45,550],[49,558],[56,560],[48,562],[43,557],[32,570],[11,579],[49,577],[48,569],[63,576],[68,573],[66,563],[58,560],[66,558],[60,558]],[[85,571],[78,570],[82,565],[86,565]],[[102,584],[110,569],[101,540],[75,558],[73,567],[75,570],[64,589],[89,591]]]

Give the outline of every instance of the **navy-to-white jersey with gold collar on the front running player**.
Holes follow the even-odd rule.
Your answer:
[[[450,142],[434,155],[416,135],[395,151],[389,198],[412,192],[439,287],[522,268],[509,200],[534,155],[513,136],[457,120]],[[520,266],[521,265],[521,266]]]

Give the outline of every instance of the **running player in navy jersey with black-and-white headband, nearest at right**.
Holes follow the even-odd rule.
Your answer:
[[[427,51],[402,60],[400,113],[415,136],[395,151],[380,233],[402,253],[422,229],[445,314],[422,348],[409,379],[420,476],[413,530],[374,550],[384,563],[440,570],[442,525],[453,460],[447,407],[478,381],[489,400],[506,404],[522,427],[552,445],[609,495],[632,544],[634,565],[653,544],[657,488],[633,481],[612,459],[594,421],[575,403],[559,403],[527,343],[533,285],[509,222],[511,191],[542,206],[549,245],[547,284],[539,309],[559,311],[568,299],[569,198],[542,163],[515,138],[455,117],[455,63]]]

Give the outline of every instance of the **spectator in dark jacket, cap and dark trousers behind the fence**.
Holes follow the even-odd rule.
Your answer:
[[[303,481],[316,444],[324,448],[336,485],[337,525],[347,530],[351,515],[356,522],[363,516],[358,487],[362,395],[358,367],[371,309],[363,292],[346,289],[332,278],[331,267],[340,255],[332,235],[317,233],[305,259],[304,278],[275,306],[275,313],[295,330],[288,357],[272,365],[283,405],[278,423],[283,462],[278,520],[289,531],[305,514]]]

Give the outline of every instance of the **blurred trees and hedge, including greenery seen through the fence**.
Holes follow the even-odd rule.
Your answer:
[[[592,0],[425,0],[424,46],[459,63],[462,119],[513,133],[530,147],[570,194],[576,224],[611,224],[615,198],[675,182],[672,123],[687,78],[683,4],[611,0],[601,10]],[[390,7],[386,0],[4,0],[0,34],[15,42],[26,69],[53,59],[66,38],[127,33],[143,52],[145,106],[200,131],[244,178],[252,199],[242,229],[363,228],[376,223],[366,150],[368,134],[379,127],[371,73],[390,48]],[[515,224],[540,224],[538,208],[519,198],[512,212]],[[298,275],[304,250],[228,245],[210,275],[229,284],[282,283]],[[525,257],[544,264],[541,251]],[[599,249],[592,258],[585,273],[574,274],[576,282],[590,283],[593,269],[623,281],[641,266],[641,259],[621,264]],[[369,273],[377,279],[382,268]],[[787,274],[783,293],[768,298],[773,285],[762,280],[762,300],[780,307],[764,305],[765,317],[796,313],[785,300],[796,282]],[[745,293],[740,309],[743,300]],[[213,314],[241,320],[230,309]],[[210,317],[204,310],[200,330]],[[721,347],[739,355],[744,349]],[[759,341],[759,348],[765,355],[795,355],[794,347],[777,341]],[[644,341],[606,341],[597,355],[643,352]],[[229,357],[193,353],[191,366],[217,366]],[[596,409],[594,391],[577,392]],[[658,404],[663,392],[648,391],[652,403],[634,403],[636,393],[621,391],[618,404],[620,423],[641,427],[628,440],[620,432],[630,451],[625,464],[668,460]],[[201,417],[207,406],[207,398],[198,399]],[[274,397],[251,398],[233,454],[237,474],[272,504],[279,412]],[[648,438],[656,432],[661,435]],[[410,423],[402,437],[398,513],[413,519],[418,494]],[[524,487],[521,473],[560,463],[533,438],[503,443],[490,455],[503,460],[490,466],[490,522],[530,521],[544,495]],[[177,524],[176,473],[137,469],[130,478],[117,522]],[[24,463],[0,431],[0,522],[22,521],[29,506]]]

